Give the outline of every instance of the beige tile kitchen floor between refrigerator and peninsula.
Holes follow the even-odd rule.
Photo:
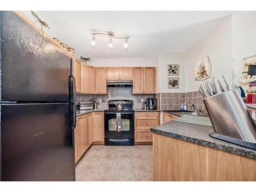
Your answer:
[[[153,181],[152,145],[92,145],[76,164],[76,181]]]

